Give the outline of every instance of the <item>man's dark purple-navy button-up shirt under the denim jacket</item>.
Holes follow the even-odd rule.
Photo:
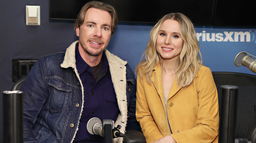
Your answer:
[[[102,67],[96,77],[93,76],[93,68],[80,56],[78,43],[75,48],[76,68],[84,87],[84,108],[79,121],[78,131],[74,143],[104,142],[100,135],[91,135],[87,131],[87,122],[93,117],[112,119],[116,121],[120,113],[116,93],[112,83],[109,64],[105,53],[102,55]]]

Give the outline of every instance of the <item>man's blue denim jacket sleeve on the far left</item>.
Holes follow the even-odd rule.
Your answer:
[[[41,58],[33,65],[20,90],[23,91],[24,143],[39,143],[32,128],[47,97]]]

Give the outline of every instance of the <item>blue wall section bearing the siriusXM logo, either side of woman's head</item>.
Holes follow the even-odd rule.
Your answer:
[[[141,59],[151,25],[119,24],[111,39],[109,50],[127,60],[135,70]],[[248,68],[236,67],[235,56],[245,51],[256,56],[256,29],[248,27],[195,26],[203,64],[212,71],[231,71],[255,74]],[[252,57],[255,59],[255,57]]]

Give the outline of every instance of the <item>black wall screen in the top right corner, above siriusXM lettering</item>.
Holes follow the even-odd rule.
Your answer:
[[[256,26],[256,0],[216,0],[213,26]]]

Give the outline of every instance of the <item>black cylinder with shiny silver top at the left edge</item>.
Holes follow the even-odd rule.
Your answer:
[[[3,91],[4,143],[23,143],[23,92]]]

